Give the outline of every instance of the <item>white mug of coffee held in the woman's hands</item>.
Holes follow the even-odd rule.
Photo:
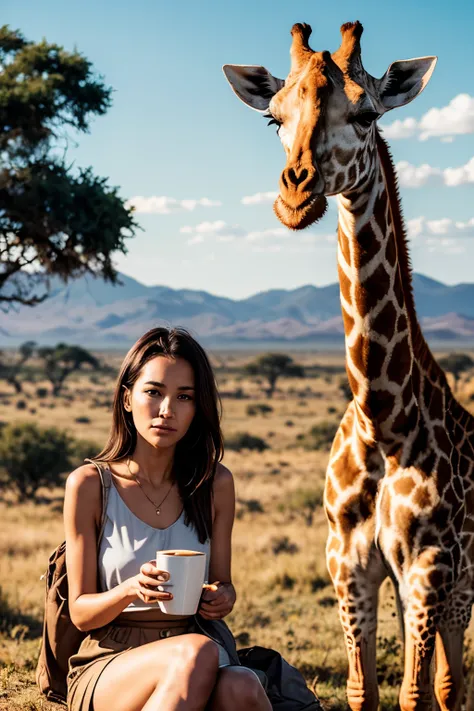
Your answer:
[[[156,567],[170,574],[158,590],[171,592],[172,600],[158,600],[167,615],[194,615],[201,599],[206,575],[206,554],[202,551],[168,550],[156,552]]]

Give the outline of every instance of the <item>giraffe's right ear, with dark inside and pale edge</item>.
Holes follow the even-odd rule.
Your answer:
[[[418,57],[393,62],[379,79],[379,97],[385,111],[413,101],[428,84],[437,57]]]

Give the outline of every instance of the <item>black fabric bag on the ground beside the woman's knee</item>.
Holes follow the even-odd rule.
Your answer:
[[[265,672],[266,692],[273,711],[322,711],[300,672],[274,649],[247,647],[237,654],[243,666]]]

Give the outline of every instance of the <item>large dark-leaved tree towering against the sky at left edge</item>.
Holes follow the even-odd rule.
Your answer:
[[[132,209],[89,168],[67,162],[68,131],[88,132],[111,89],[79,52],[0,27],[0,307],[34,305],[51,278],[116,282]],[[62,155],[60,150],[64,148]]]

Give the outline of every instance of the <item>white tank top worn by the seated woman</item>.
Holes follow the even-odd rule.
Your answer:
[[[111,590],[127,578],[137,575],[143,563],[156,558],[157,551],[175,548],[206,553],[207,582],[210,541],[199,542],[194,526],[186,526],[184,523],[184,510],[171,526],[154,528],[130,511],[115,486],[113,476],[110,478],[112,484],[107,501],[107,518],[98,551],[101,589]],[[156,605],[147,605],[137,598],[123,612],[133,610],[156,610]]]

